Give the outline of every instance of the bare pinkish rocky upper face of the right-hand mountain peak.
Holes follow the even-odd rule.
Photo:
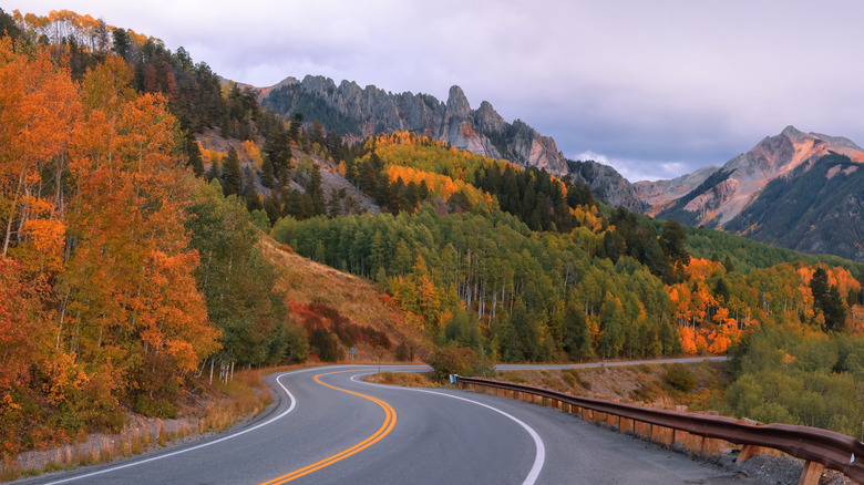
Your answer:
[[[817,133],[803,133],[788,126],[776,136],[768,136],[750,152],[741,154],[711,172],[697,187],[680,194],[701,178],[696,174],[678,178],[679,189],[662,193],[661,183],[642,184],[641,200],[654,205],[660,218],[676,218],[693,226],[720,227],[738,217],[757,200],[764,187],[774,179],[791,174],[806,173],[820,158],[836,153],[848,156],[853,163],[864,162],[864,152],[851,141]],[[667,186],[676,186],[671,180]],[[664,197],[670,198],[664,200]]]

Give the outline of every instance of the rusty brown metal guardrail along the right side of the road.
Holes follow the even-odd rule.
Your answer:
[[[457,375],[454,380],[459,384],[482,385],[533,394],[572,406],[680,430],[698,436],[724,440],[740,445],[779,450],[805,460],[808,465],[804,467],[804,473],[808,473],[810,463],[820,463],[864,484],[864,444],[834,431],[789,424],[754,425],[726,416],[657,410],[635,404],[579,398],[547,389],[488,379]]]

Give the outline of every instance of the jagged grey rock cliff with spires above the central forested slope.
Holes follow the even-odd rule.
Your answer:
[[[567,162],[555,141],[527,124],[504,121],[492,105],[472,110],[459,86],[450,89],[446,103],[428,94],[392,94],[376,86],[361,89],[342,81],[338,86],[323,76],[288,78],[263,89],[261,103],[280,114],[300,111],[319,120],[325,128],[343,136],[368,137],[410,131],[450,143],[479,155],[504,158],[520,165],[567,174]]]

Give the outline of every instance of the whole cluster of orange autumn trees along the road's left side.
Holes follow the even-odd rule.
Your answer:
[[[169,412],[218,348],[176,122],[130,81],[109,56],[76,84],[0,40],[0,453],[117,426],[121,404]]]

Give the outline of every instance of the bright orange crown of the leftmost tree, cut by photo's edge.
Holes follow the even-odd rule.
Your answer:
[[[48,51],[29,56],[0,39],[0,221],[2,254],[28,269],[58,270],[64,153],[81,109],[69,70]],[[53,180],[44,180],[51,174]],[[52,182],[53,190],[45,185]],[[30,268],[30,266],[33,266]]]

